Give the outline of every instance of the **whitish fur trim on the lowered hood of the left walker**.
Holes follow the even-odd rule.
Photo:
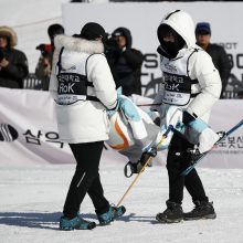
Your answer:
[[[65,50],[73,52],[84,52],[87,54],[103,53],[104,44],[99,41],[88,41],[82,38],[73,38],[67,35],[56,35],[54,39],[55,50],[60,51],[63,46]]]

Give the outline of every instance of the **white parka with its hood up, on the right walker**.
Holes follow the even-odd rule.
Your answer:
[[[198,117],[207,120],[213,104],[220,97],[222,85],[219,72],[214,67],[211,56],[196,44],[194,23],[188,13],[183,11],[170,12],[165,17],[160,24],[170,25],[186,41],[184,47],[178,52],[175,60],[180,60],[184,55],[189,56],[190,53],[193,52],[193,54],[190,55],[190,59],[188,59],[187,73],[191,80],[198,81],[198,84],[191,87],[191,93],[199,94],[194,98],[191,98],[190,103],[187,104],[184,108],[190,114],[196,114]],[[161,56],[161,60],[165,59],[167,57]],[[173,60],[167,59],[168,66],[170,63],[172,66]],[[172,68],[175,67],[172,66]],[[177,70],[177,66],[175,70]],[[158,94],[155,103],[161,102],[162,95],[163,91]]]

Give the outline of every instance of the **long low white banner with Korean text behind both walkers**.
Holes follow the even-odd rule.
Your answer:
[[[137,103],[149,103],[137,98]],[[228,130],[243,118],[242,101],[220,101],[213,108],[211,126]],[[108,148],[108,147],[107,147]],[[54,103],[47,92],[0,88],[0,167],[29,163],[74,162],[68,145],[59,139]],[[108,148],[102,162],[127,162],[127,158]],[[166,163],[159,152],[156,163]],[[200,163],[203,167],[243,168],[243,127],[226,138]]]

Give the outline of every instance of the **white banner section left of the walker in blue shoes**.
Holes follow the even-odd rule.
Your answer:
[[[0,125],[1,166],[74,161],[47,92],[0,88]]]

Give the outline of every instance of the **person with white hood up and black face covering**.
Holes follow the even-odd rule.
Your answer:
[[[199,122],[196,127],[200,136],[207,135],[209,129],[200,120],[208,122],[210,110],[220,97],[219,72],[210,55],[196,45],[194,23],[187,12],[176,10],[166,14],[158,27],[157,34],[160,42],[158,52],[161,59],[163,83],[155,103],[163,103],[162,113],[167,110],[166,106],[180,107],[183,110],[182,123],[193,129],[196,122]],[[157,107],[157,110],[160,112],[161,107]],[[165,116],[162,113],[160,118]],[[169,146],[167,156],[169,199],[166,202],[167,209],[156,216],[160,223],[216,216],[196,169],[186,177],[181,176],[190,165],[191,152],[189,151],[196,145],[193,134],[188,135],[188,139],[184,139],[177,133],[173,134]],[[212,133],[210,136],[211,140],[219,138]],[[184,187],[196,204],[194,209],[188,213],[183,213],[181,207]]]

